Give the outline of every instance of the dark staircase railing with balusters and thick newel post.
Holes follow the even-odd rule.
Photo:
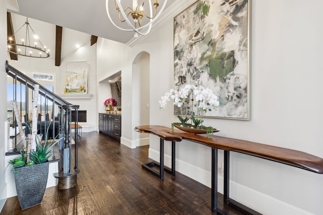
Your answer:
[[[16,101],[17,98],[19,98],[21,101],[18,105],[18,109],[20,120],[24,122],[25,126],[29,126],[29,121],[31,119],[31,104],[34,86],[39,85],[39,97],[41,105],[37,110],[38,133],[44,134],[45,130],[49,128],[46,138],[62,138],[62,140],[59,141],[58,147],[56,148],[54,146],[52,148],[52,158],[49,162],[58,161],[58,172],[53,174],[53,176],[57,179],[57,188],[69,189],[74,187],[77,183],[77,174],[79,173],[77,153],[79,131],[76,129],[78,127],[79,105],[70,104],[58,95],[50,92],[33,79],[21,73],[21,71],[9,65],[8,61],[6,61],[6,73],[9,77],[13,78],[13,98]],[[25,102],[23,103],[22,101]],[[72,116],[72,114],[75,115]],[[71,122],[72,117],[75,119],[74,122]],[[73,127],[75,128],[73,136],[71,123],[74,124]],[[13,134],[10,135],[16,137],[19,131],[14,114],[10,127],[12,127],[11,130],[13,130]],[[26,134],[29,132],[29,129],[25,129]],[[75,142],[74,146],[72,146],[72,139],[74,139]],[[46,141],[46,139],[44,139],[44,141]],[[6,153],[6,156],[20,154],[18,150],[19,142],[17,142],[17,138],[13,138],[12,144],[13,149],[9,150]]]

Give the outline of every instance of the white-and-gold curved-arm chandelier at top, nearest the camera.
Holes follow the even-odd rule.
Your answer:
[[[109,7],[108,7],[109,1],[110,0],[105,0],[105,9],[106,9],[107,16],[109,17],[112,24],[123,31],[134,31],[134,37],[138,37],[138,34],[146,35],[149,33],[152,23],[160,16],[161,12],[163,12],[163,10],[165,9],[166,3],[167,3],[167,0],[165,0],[163,7],[161,7],[159,13],[157,13],[157,8],[159,6],[158,1],[155,0],[155,3],[152,4],[151,0],[148,0],[149,11],[150,11],[150,15],[148,15],[144,11],[145,0],[142,0],[141,5],[138,4],[138,0],[133,0],[132,7],[128,6],[125,9],[123,9],[121,5],[121,0],[115,0],[115,6],[118,11],[119,21],[122,23],[126,22],[130,27],[130,29],[125,29],[117,26],[114,23],[114,21],[111,19],[111,16],[109,13]],[[132,22],[129,20],[128,17],[131,17],[133,19]],[[149,22],[147,22],[146,24],[143,24],[142,20],[144,18],[149,19]],[[148,29],[144,31],[146,27]]]

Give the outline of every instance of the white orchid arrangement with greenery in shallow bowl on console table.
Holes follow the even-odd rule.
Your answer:
[[[210,89],[194,85],[185,85],[182,89],[178,91],[171,89],[165,94],[165,96],[161,97],[161,100],[159,100],[159,109],[166,108],[167,102],[171,99],[174,100],[174,105],[179,107],[181,111],[181,115],[177,116],[180,120],[180,123],[172,123],[173,129],[174,124],[181,124],[184,127],[205,129],[207,133],[211,131],[213,132],[212,127],[205,127],[202,125],[203,112],[206,112],[208,109],[211,110],[210,107],[212,107],[213,109],[217,109],[217,107],[220,104],[218,96],[214,95]],[[188,107],[190,101],[191,110],[189,110]],[[194,101],[196,102],[195,105]],[[197,108],[196,118],[193,112],[194,106]],[[185,109],[184,114],[183,108]],[[190,116],[188,116],[188,113],[190,113]],[[183,115],[185,115],[185,118],[183,117]],[[187,123],[189,119],[191,119],[193,124]]]

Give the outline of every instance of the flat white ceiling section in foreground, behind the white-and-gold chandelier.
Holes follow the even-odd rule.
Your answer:
[[[19,11],[9,10],[25,17],[62,26],[89,35],[111,39],[121,43],[127,43],[133,38],[133,32],[125,32],[117,29],[110,22],[105,10],[104,0],[10,0],[16,1]],[[115,7],[114,1],[109,7]],[[168,0],[167,7],[176,0]],[[131,3],[131,1],[129,1]],[[140,1],[139,1],[140,2]],[[146,1],[147,2],[147,1]],[[159,5],[164,0],[158,1]],[[147,4],[147,3],[145,3]],[[113,11],[116,11],[113,8]],[[115,12],[116,13],[116,12]],[[117,13],[116,13],[116,22]]]

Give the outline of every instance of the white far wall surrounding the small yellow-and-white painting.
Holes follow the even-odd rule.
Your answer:
[[[73,97],[72,94],[64,94],[65,86],[65,71],[69,68],[78,68],[78,66],[88,67],[88,92],[87,94],[92,94],[91,98],[78,98]],[[57,93],[62,96],[67,102],[73,105],[80,105],[79,110],[86,110],[86,123],[80,122],[79,124],[83,126],[82,132],[90,132],[97,129],[97,106],[96,101],[96,44],[90,45],[90,42],[81,46],[76,51],[66,56],[60,66],[60,71],[58,75],[58,89]],[[65,97],[68,96],[68,97]]]

